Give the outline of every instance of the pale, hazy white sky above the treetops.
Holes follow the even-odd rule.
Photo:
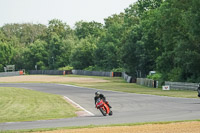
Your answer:
[[[7,23],[47,25],[59,19],[71,27],[78,21],[104,23],[137,0],[0,0],[0,26]]]

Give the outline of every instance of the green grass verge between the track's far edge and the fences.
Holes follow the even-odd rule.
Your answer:
[[[169,97],[183,97],[183,98],[198,98],[196,91],[188,90],[169,90],[163,91],[162,88],[149,88],[135,83],[127,83],[121,77],[97,77],[97,76],[77,76],[77,75],[67,75],[68,77],[84,77],[84,78],[98,78],[103,79],[108,82],[102,83],[67,83],[77,86],[103,89],[103,90],[112,90],[112,91],[121,91],[128,93],[137,93],[137,94],[150,94],[150,95],[159,95],[159,96],[169,96]]]

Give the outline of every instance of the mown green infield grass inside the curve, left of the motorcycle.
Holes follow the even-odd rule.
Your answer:
[[[75,111],[58,95],[0,87],[0,122],[69,118],[76,116]]]

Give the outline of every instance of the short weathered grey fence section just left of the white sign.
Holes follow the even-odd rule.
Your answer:
[[[153,87],[153,88],[158,87],[158,81],[155,81],[153,79],[137,78],[136,83],[139,85],[144,85],[144,86]]]

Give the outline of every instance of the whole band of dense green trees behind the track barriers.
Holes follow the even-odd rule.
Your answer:
[[[200,82],[200,1],[138,0],[105,24],[60,20],[0,27],[0,70],[121,69],[137,77],[149,71],[163,80]]]

